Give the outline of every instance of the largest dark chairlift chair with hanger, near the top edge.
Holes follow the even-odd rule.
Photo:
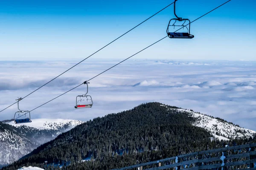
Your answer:
[[[177,18],[173,18],[173,19],[171,19],[170,21],[169,21],[169,24],[168,24],[168,27],[167,27],[167,30],[166,30],[166,33],[167,33],[167,35],[168,35],[168,37],[169,38],[180,38],[180,39],[192,39],[192,38],[194,38],[194,35],[192,35],[192,34],[190,34],[190,20],[189,19],[184,19],[184,18],[181,18],[181,17],[178,17],[177,15],[176,15],[176,10],[175,10],[175,3],[176,3],[176,1],[177,0],[175,0],[175,2],[174,2],[174,14],[175,14],[175,17],[177,17]],[[172,23],[172,21],[175,21],[174,23]],[[175,25],[175,23],[176,22],[183,22],[181,25]],[[185,24],[185,23],[187,23],[187,21],[189,22],[188,24]],[[188,25],[188,26],[186,26],[186,25]],[[176,31],[174,31],[174,32],[171,32],[170,31],[170,27],[174,27],[175,28],[175,26],[177,26],[177,27],[181,27],[181,28],[183,28],[183,30],[184,30],[184,27],[186,28],[186,32],[180,32],[180,30],[178,30],[179,32],[176,32]],[[189,27],[189,28],[188,28]]]

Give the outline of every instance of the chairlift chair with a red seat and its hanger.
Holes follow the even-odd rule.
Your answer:
[[[88,83],[84,82],[84,84],[87,85],[87,92],[88,93]],[[75,108],[91,108],[93,106],[93,99],[90,95],[82,94],[79,96],[76,96],[76,106]],[[85,102],[86,101],[86,102]]]

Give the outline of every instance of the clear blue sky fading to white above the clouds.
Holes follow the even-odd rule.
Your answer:
[[[0,60],[82,59],[172,1],[0,1]],[[194,20],[225,0],[178,0]],[[192,40],[166,39],[135,58],[255,60],[255,0],[231,0],[192,23]],[[170,6],[94,58],[123,59],[166,36]]]

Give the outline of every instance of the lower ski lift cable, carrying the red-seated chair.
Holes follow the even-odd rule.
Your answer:
[[[223,6],[223,5],[225,5],[226,3],[230,2],[230,1],[231,1],[231,0],[228,0],[227,2],[225,2],[225,3],[221,4],[220,6],[218,6],[218,7],[214,8],[214,9],[212,9],[211,11],[209,11],[209,12],[207,12],[206,14],[202,15],[201,17],[204,17],[205,15],[209,14],[210,12],[212,12],[212,11],[214,11],[215,9],[217,9],[217,8],[219,8],[219,7]],[[200,19],[201,17],[198,17],[197,19],[193,20],[191,23],[195,22],[196,20]],[[188,25],[188,24],[187,24],[187,25]],[[186,26],[187,26],[187,25],[186,25]],[[181,28],[177,29],[176,31],[179,31],[180,29],[182,29],[182,28],[184,28],[184,27],[185,27],[185,26],[183,26],[183,27],[181,27]],[[175,31],[175,32],[176,32],[176,31]],[[166,37],[168,37],[168,36],[166,36]],[[139,52],[135,53],[134,55],[136,55],[136,54],[138,54],[138,53],[140,53],[140,52],[144,51],[145,49],[147,49],[147,48],[151,47],[152,45],[156,44],[157,42],[160,42],[161,40],[165,39],[166,37],[161,38],[160,40],[158,40],[158,41],[154,42],[153,44],[151,44],[151,45],[147,46],[146,48],[144,48],[143,50],[141,50],[141,51],[139,51]],[[126,61],[127,59],[129,59],[129,58],[133,57],[134,55],[132,55],[132,56],[130,56],[130,57],[128,57],[128,58],[126,58],[126,59],[122,60],[121,62],[117,63],[116,65],[119,65],[120,63],[122,63],[122,62]],[[115,67],[116,65],[113,65],[111,68]],[[91,79],[89,79],[89,80],[87,80],[87,81],[85,81],[85,82],[81,83],[80,85],[78,85],[78,86],[76,86],[76,87],[72,88],[71,90],[69,90],[69,91],[65,92],[64,94],[66,94],[66,93],[68,93],[68,92],[70,92],[70,91],[74,90],[75,88],[78,88],[79,86],[83,85],[84,83],[86,83],[86,82],[88,82],[88,81],[90,81],[90,80],[92,80],[92,79],[94,79],[94,78],[98,77],[99,75],[101,75],[101,74],[105,73],[106,71],[110,70],[111,68],[108,68],[107,70],[103,71],[102,73],[100,73],[100,74],[96,75],[95,77],[93,77],[93,78],[91,78]],[[64,95],[64,94],[61,94],[61,95],[59,95],[59,96],[55,97],[54,99],[57,99],[58,97],[60,97],[60,96],[62,96],[62,95]],[[51,101],[52,101],[52,100],[54,100],[54,99],[51,99],[51,100],[49,100],[48,102],[45,102],[44,104],[42,104],[42,105],[38,106],[37,108],[40,108],[41,106],[43,106],[43,105],[45,105],[45,104],[47,104],[47,103],[51,102]],[[34,111],[34,110],[35,110],[35,109],[37,109],[37,108],[34,108],[34,109],[33,109],[33,110],[31,110],[30,112]],[[22,116],[23,116],[23,115],[22,115]],[[10,121],[10,122],[12,122],[12,121]],[[9,122],[8,122],[8,123],[9,123]]]

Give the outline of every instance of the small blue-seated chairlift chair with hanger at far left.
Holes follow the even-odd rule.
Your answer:
[[[15,115],[14,115],[14,122],[15,124],[18,124],[18,123],[30,123],[32,122],[31,119],[30,119],[30,111],[21,111],[20,108],[19,108],[19,101],[21,100],[22,98],[18,98],[16,99],[18,102],[18,110]]]

